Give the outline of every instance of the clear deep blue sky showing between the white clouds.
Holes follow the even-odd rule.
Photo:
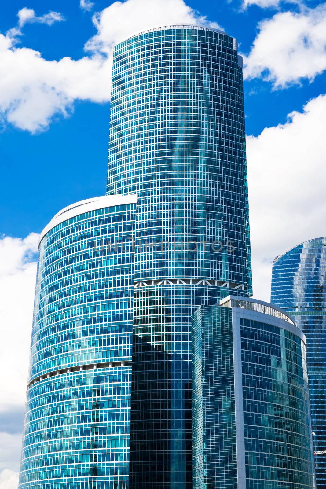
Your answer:
[[[113,2],[97,1],[95,10],[102,11],[110,3]],[[238,1],[193,0],[187,4],[237,37],[243,53],[250,51],[258,22],[277,12],[256,5],[241,10]],[[313,2],[309,5],[313,6]],[[26,24],[17,47],[41,51],[46,60],[60,60],[64,56],[77,60],[85,55],[84,44],[96,34],[91,20],[93,11],[83,11],[77,0],[5,2],[0,32],[5,33],[17,24],[17,13],[24,6],[33,8],[37,15],[50,10],[61,12],[66,21],[55,22],[52,26]],[[283,7],[299,10],[293,4]],[[325,76],[318,75],[313,83],[303,79],[300,86],[284,90],[272,90],[271,82],[259,78],[245,82],[247,133],[258,135],[266,126],[285,122],[287,113],[301,110],[308,99],[323,92]],[[3,208],[0,232],[19,237],[32,231],[40,232],[58,209],[70,202],[103,194],[108,131],[109,102],[96,104],[77,100],[71,116],[56,115],[46,131],[33,135],[5,121],[0,133]]]

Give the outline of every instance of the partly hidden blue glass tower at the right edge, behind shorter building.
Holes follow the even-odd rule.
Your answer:
[[[314,450],[326,450],[326,238],[298,244],[274,260],[271,302],[294,317],[307,340]],[[315,455],[316,484],[326,488],[326,453]]]

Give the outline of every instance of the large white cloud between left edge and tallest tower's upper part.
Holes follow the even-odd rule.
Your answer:
[[[0,34],[0,67],[0,115],[32,133],[45,129],[54,114],[67,116],[76,98],[109,99],[110,63],[100,55],[47,61]]]

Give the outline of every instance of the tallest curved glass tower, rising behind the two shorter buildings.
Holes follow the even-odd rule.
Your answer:
[[[130,488],[191,489],[191,316],[230,289],[251,293],[234,38],[176,25],[115,47],[108,194],[115,193],[138,195]]]

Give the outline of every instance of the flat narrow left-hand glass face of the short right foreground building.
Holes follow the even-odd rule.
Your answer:
[[[238,489],[232,311],[193,315],[193,487]]]

